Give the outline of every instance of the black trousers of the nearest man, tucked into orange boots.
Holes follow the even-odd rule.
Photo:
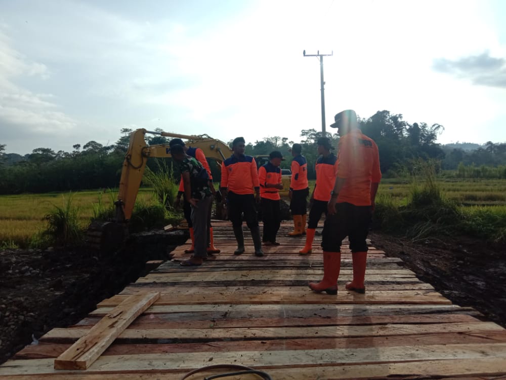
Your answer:
[[[352,252],[367,252],[367,234],[371,222],[371,206],[338,203],[335,214],[327,215],[323,224],[321,246],[325,252],[341,252],[341,243],[348,236]]]

